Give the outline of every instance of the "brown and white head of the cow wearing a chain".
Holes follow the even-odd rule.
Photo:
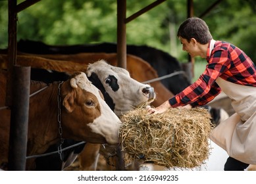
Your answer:
[[[77,73],[61,86],[63,136],[90,143],[118,143],[121,122],[86,74]]]

